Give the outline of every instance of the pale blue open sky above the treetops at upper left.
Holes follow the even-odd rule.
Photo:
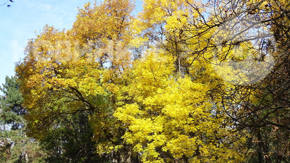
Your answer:
[[[7,0],[0,0],[0,5]],[[5,76],[14,76],[15,62],[24,58],[24,48],[28,39],[46,24],[59,29],[70,29],[78,7],[88,0],[14,0],[0,6],[0,84]],[[94,1],[89,1],[93,3]],[[136,8],[141,10],[142,2],[136,0]],[[36,31],[36,34],[35,32]],[[1,84],[2,86],[2,84]]]

